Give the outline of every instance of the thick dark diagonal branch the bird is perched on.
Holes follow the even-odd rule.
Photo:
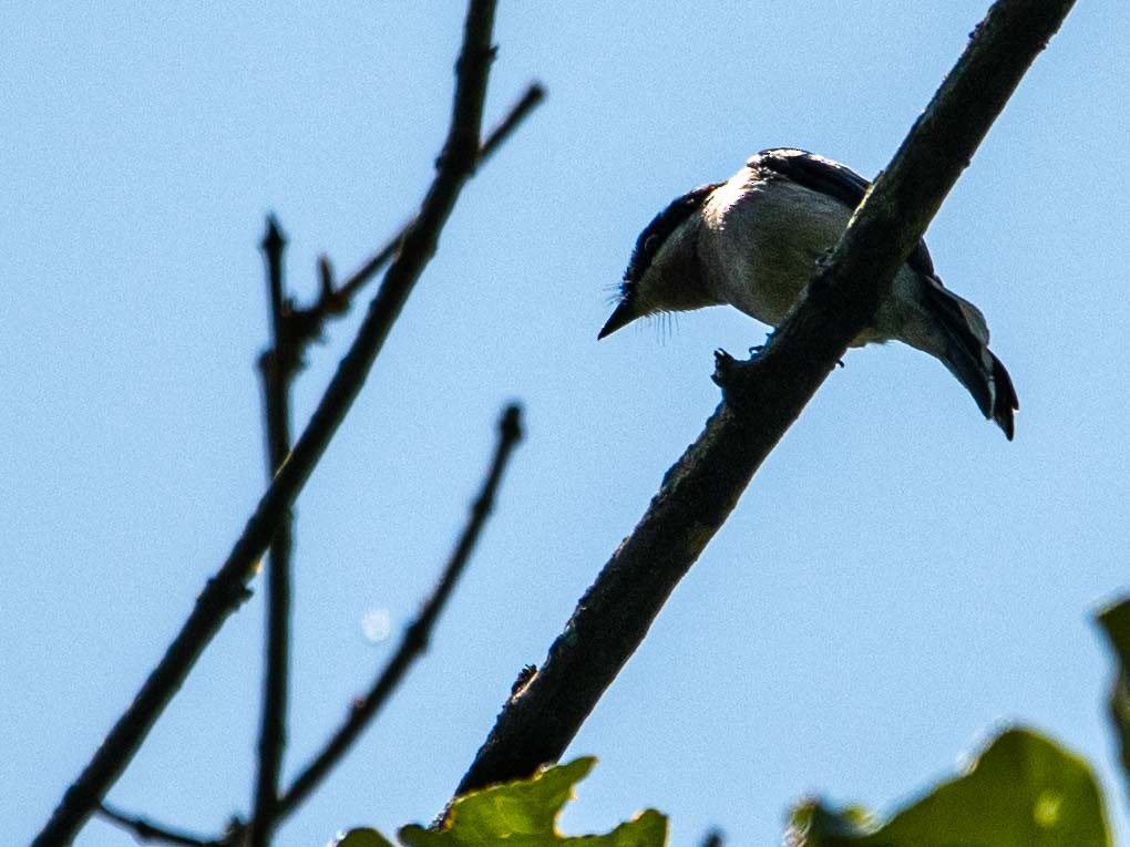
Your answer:
[[[748,364],[719,357],[723,401],[511,697],[457,794],[556,761],[757,468],[867,326],[1072,0],[999,0],[857,210],[802,302]]]

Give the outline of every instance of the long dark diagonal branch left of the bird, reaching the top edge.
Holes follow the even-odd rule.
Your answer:
[[[90,762],[67,789],[33,847],[61,847],[70,844],[106,791],[125,769],[203,648],[227,617],[246,599],[246,582],[253,575],[255,564],[267,550],[365,383],[416,280],[435,254],[440,230],[451,215],[463,184],[475,171],[483,101],[495,53],[490,44],[495,5],[496,0],[469,0],[462,52],[455,69],[455,102],[451,126],[437,163],[437,174],[419,215],[405,235],[399,254],[370,305],[357,338],[227,560],[208,580],[192,613],[164,657],[105,736]]]

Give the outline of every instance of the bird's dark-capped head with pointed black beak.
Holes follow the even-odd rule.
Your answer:
[[[707,296],[695,243],[706,198],[722,183],[699,185],[657,215],[636,239],[616,309],[598,339],[637,317],[681,312],[713,303]]]

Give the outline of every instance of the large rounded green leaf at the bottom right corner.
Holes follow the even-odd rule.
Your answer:
[[[999,735],[964,776],[886,824],[809,803],[793,814],[800,847],[1109,847],[1087,763],[1028,730]]]

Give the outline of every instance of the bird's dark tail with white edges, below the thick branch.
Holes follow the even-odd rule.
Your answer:
[[[984,315],[937,280],[925,286],[925,307],[941,330],[942,349],[935,355],[964,385],[985,418],[1012,440],[1014,417],[1020,408],[1005,365],[989,349]]]

